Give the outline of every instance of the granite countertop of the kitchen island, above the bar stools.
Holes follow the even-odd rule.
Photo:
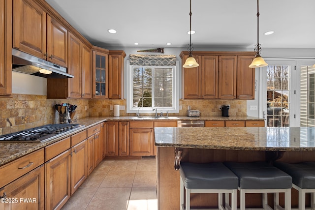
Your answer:
[[[218,150],[315,150],[315,127],[156,127],[155,145]]]

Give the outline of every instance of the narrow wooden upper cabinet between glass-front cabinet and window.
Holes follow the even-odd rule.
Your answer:
[[[120,99],[124,95],[124,58],[126,53],[122,50],[109,51],[109,87],[108,98]]]

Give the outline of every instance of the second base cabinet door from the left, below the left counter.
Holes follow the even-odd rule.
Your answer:
[[[70,198],[70,152],[71,150],[66,150],[45,163],[45,209],[47,210],[61,208]]]

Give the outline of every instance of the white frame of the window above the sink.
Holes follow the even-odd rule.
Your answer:
[[[175,66],[139,66],[130,65],[130,61],[126,60],[126,113],[154,113],[152,107],[133,107],[133,67],[153,67],[153,68],[173,68],[173,99],[172,108],[170,107],[157,107],[158,112],[163,111],[164,113],[168,111],[169,113],[179,113],[179,61],[176,60]],[[154,91],[154,80],[152,81],[152,90]]]

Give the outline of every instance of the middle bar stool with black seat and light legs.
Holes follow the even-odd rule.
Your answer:
[[[263,209],[271,209],[268,205],[267,193],[274,193],[274,209],[279,205],[279,193],[284,192],[285,210],[291,209],[292,178],[282,170],[266,162],[224,162],[239,179],[240,210],[245,210],[246,193],[262,193]]]

